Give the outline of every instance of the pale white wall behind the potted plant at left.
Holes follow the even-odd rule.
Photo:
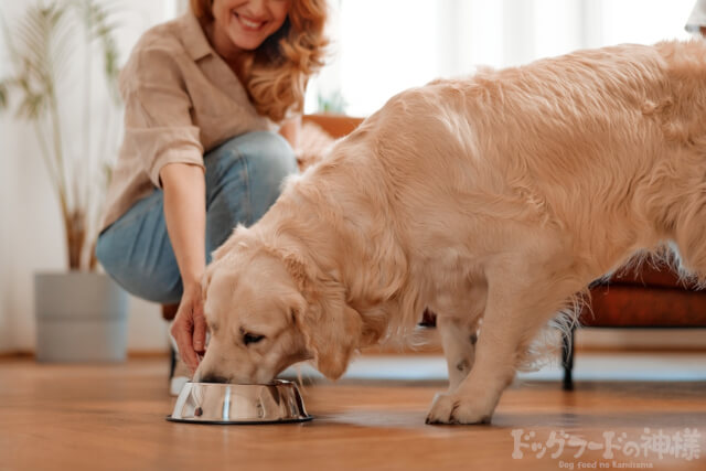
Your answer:
[[[176,14],[181,0],[122,0],[118,31],[120,63],[149,26]],[[3,2],[0,13],[9,25],[21,17],[25,2]],[[7,68],[4,38],[0,35],[0,76]],[[78,118],[76,118],[78,119]],[[65,247],[56,197],[39,153],[32,128],[0,116],[0,353],[34,349],[33,274],[64,270]],[[76,127],[74,126],[74,129]],[[76,138],[68,137],[68,139]],[[167,324],[159,307],[131,298],[131,351],[161,351],[168,345]]]

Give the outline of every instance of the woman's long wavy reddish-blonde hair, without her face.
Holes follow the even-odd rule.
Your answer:
[[[191,0],[202,22],[213,21],[213,0]],[[258,114],[281,121],[303,110],[309,77],[323,65],[329,43],[323,34],[325,0],[291,0],[282,26],[267,38],[244,63],[244,85]]]

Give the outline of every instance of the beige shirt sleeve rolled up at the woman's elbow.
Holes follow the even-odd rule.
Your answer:
[[[126,151],[137,157],[150,181],[168,163],[204,167],[200,129],[178,62],[168,51],[145,49],[120,75],[125,99]]]

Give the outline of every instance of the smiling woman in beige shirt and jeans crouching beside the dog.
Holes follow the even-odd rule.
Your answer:
[[[126,132],[97,256],[132,295],[179,303],[171,332],[192,370],[211,251],[297,171],[290,144],[325,18],[325,0],[192,0],[143,34],[120,75]]]

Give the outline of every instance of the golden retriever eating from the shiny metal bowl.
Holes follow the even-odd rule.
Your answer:
[[[664,246],[703,280],[705,234],[700,42],[436,81],[389,99],[214,251],[195,381],[266,383],[303,360],[336,378],[428,307],[450,388],[427,422],[488,422],[589,282]]]

